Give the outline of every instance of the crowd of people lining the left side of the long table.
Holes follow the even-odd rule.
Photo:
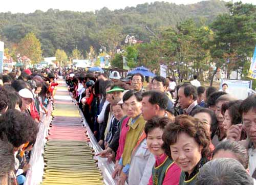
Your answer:
[[[56,72],[5,67],[0,75],[0,184],[23,184],[39,125],[48,113]]]

